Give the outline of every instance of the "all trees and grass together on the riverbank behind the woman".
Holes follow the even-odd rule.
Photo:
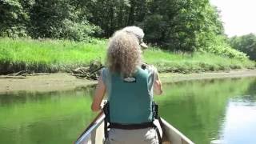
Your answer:
[[[209,0],[4,0],[0,13],[0,74],[70,71],[92,60],[104,62],[104,39],[133,25],[142,27],[151,46],[146,62],[160,71],[255,67],[230,46]]]

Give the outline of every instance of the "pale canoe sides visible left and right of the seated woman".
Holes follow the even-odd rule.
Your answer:
[[[84,130],[74,144],[103,144],[104,143],[104,118],[102,112],[98,114],[94,121]],[[170,123],[162,119],[162,143],[163,144],[194,144],[184,134],[171,126]],[[160,126],[158,122],[155,123]]]

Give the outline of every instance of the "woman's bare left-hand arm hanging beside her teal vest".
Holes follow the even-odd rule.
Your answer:
[[[94,102],[91,104],[91,110],[98,111],[101,110],[102,99],[104,98],[106,92],[106,86],[102,81],[102,77],[98,79],[98,85],[96,86],[94,94]]]

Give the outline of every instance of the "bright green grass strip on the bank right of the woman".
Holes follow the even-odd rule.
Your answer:
[[[249,59],[227,58],[210,53],[175,54],[158,49],[147,50],[146,62],[160,71],[191,73],[202,71],[254,69],[255,62]]]

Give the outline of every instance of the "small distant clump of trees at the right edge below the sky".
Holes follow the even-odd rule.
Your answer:
[[[256,60],[256,35],[247,34],[241,37],[234,36],[230,38],[230,45],[236,50],[240,50],[250,57],[252,60]]]

